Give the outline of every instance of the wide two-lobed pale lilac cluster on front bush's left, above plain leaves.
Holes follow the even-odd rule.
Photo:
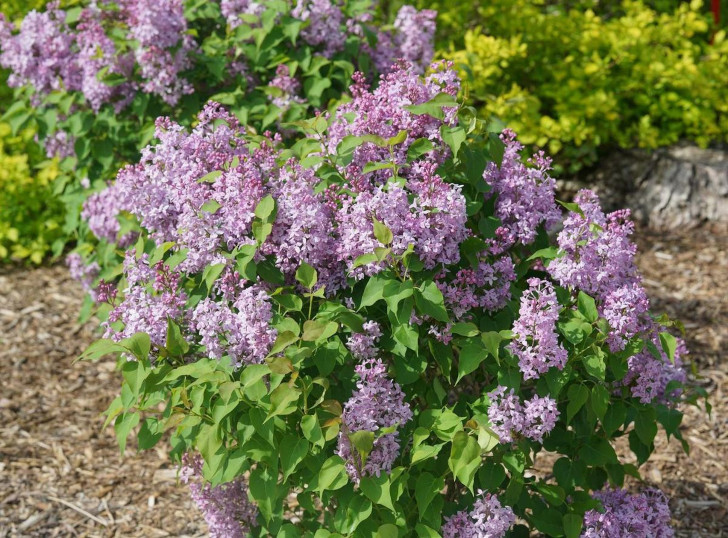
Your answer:
[[[236,368],[260,364],[275,342],[277,331],[270,326],[273,308],[259,285],[239,292],[232,305],[202,300],[192,313],[191,328],[200,336],[207,355],[221,359],[229,355]]]

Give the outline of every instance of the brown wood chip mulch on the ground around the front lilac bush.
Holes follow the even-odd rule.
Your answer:
[[[728,537],[728,229],[637,240],[654,310],[684,321],[713,405],[686,410],[690,455],[660,433],[643,476],[672,498],[678,536]],[[93,339],[81,297],[65,267],[0,269],[0,538],[204,536],[164,450],[121,457],[101,430],[120,382],[110,361],[73,363]]]

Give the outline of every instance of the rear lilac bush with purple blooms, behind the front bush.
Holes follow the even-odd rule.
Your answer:
[[[60,159],[66,238],[83,243],[83,201],[138,159],[154,121],[195,121],[209,98],[259,132],[327,107],[354,69],[374,77],[395,58],[431,60],[434,14],[405,6],[392,25],[367,0],[49,2],[0,20],[0,66],[13,133],[31,128]],[[90,246],[88,248],[91,248]]]

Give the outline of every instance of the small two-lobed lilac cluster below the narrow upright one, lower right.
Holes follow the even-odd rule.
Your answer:
[[[488,420],[502,443],[512,443],[514,435],[541,443],[559,418],[556,400],[548,396],[533,396],[521,403],[513,389],[498,386],[488,398]]]

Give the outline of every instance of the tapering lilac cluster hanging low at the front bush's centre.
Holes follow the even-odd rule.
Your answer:
[[[412,410],[405,403],[400,386],[387,376],[387,367],[381,360],[364,361],[355,370],[359,381],[356,391],[344,405],[337,453],[346,461],[351,479],[358,484],[363,476],[379,476],[392,470],[399,455],[399,433],[376,437],[363,465],[358,450],[351,445],[349,434],[370,431],[376,436],[382,428],[407,423],[412,418]]]

